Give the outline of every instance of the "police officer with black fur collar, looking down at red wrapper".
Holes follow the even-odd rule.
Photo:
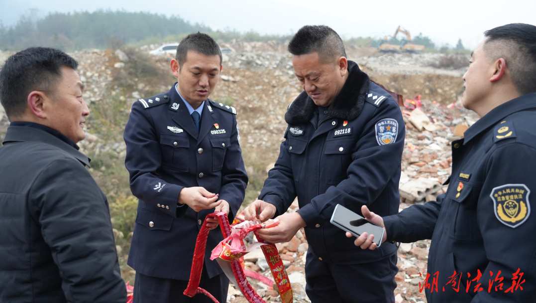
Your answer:
[[[327,26],[304,26],[288,50],[304,91],[285,114],[279,158],[248,219],[279,216],[258,233],[285,242],[304,227],[311,302],[394,302],[397,247],[361,250],[330,224],[337,204],[398,212],[405,126],[398,104],[346,60],[343,41]],[[285,213],[297,196],[300,209]]]

